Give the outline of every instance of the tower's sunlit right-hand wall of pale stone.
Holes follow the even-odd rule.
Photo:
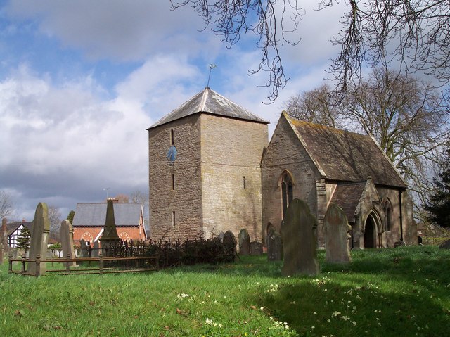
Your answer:
[[[252,241],[262,237],[261,156],[267,125],[217,115],[201,115],[203,231],[247,229]]]

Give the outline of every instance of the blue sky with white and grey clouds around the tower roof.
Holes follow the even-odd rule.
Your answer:
[[[79,202],[148,193],[148,133],[163,115],[210,87],[271,121],[289,96],[326,77],[342,8],[307,14],[283,46],[291,78],[266,105],[266,73],[248,76],[260,51],[244,36],[231,49],[191,8],[169,1],[0,1],[0,189],[13,220],[32,220],[37,203],[63,217]],[[342,7],[342,6],[341,6]]]

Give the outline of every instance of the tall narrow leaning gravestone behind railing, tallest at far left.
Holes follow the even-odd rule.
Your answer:
[[[37,270],[36,263],[30,262],[28,264],[27,274],[45,275],[46,272],[46,256],[47,256],[47,243],[49,243],[49,208],[46,203],[39,203],[34,212],[34,220],[32,224],[31,239],[30,239],[30,260],[36,260],[36,257],[40,255],[41,263],[39,270]]]

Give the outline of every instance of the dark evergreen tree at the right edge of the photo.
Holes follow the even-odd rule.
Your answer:
[[[439,178],[433,179],[433,184],[435,191],[424,207],[429,213],[428,220],[439,227],[450,228],[450,148],[441,165]]]

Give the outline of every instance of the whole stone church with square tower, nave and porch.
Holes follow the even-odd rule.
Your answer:
[[[247,229],[265,243],[293,198],[318,221],[330,203],[352,225],[352,247],[417,242],[407,186],[371,136],[282,113],[266,120],[210,88],[148,128],[150,237],[210,238]]]

